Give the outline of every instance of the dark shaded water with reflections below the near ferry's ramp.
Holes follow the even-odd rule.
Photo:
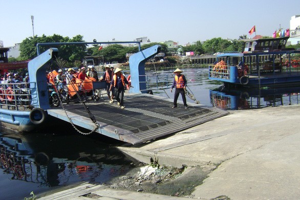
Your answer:
[[[24,198],[31,191],[79,182],[101,184],[130,170],[133,162],[115,147],[86,136],[2,134],[0,186],[7,191],[2,198]]]

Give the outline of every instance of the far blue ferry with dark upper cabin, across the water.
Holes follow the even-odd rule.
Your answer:
[[[209,79],[225,87],[261,87],[300,83],[300,50],[287,49],[289,37],[255,39],[245,43],[243,53],[225,52],[208,66]]]

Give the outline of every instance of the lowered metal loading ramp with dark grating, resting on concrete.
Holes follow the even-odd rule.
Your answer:
[[[204,108],[198,104],[188,106],[187,109],[182,104],[172,108],[172,99],[148,94],[126,94],[125,109],[121,109],[116,102],[112,104],[101,100],[87,102],[85,105],[100,125],[96,132],[131,144],[174,134],[228,114],[224,110]],[[75,125],[90,130],[96,127],[82,105],[64,106]],[[47,111],[51,116],[69,121],[62,108]]]

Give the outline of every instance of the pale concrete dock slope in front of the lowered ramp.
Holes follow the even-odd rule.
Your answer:
[[[227,116],[173,136],[139,147],[119,149],[145,163],[150,163],[152,158],[158,160],[160,165],[201,166],[208,172],[208,177],[202,185],[195,187],[189,198],[227,196],[230,199],[298,199],[299,113],[299,105],[234,110]],[[120,197],[114,196],[118,190],[109,191],[102,197]],[[97,194],[101,196],[101,192]],[[144,194],[132,192],[126,196],[123,193],[121,198],[137,199]],[[153,195],[152,199],[178,199],[157,194],[147,195]],[[88,198],[77,196],[76,199]]]

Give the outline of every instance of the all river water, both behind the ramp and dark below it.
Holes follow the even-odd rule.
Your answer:
[[[147,75],[172,75],[173,71],[148,72]],[[205,106],[254,109],[299,103],[300,89],[296,86],[227,91],[221,82],[208,80],[207,69],[183,71],[190,92]],[[165,78],[161,76],[160,80]],[[174,93],[169,88],[159,89],[153,88],[155,95],[173,98]],[[195,102],[189,98],[187,101]],[[32,191],[40,194],[81,182],[101,184],[137,167],[138,162],[115,148],[119,145],[116,141],[83,136],[70,127],[67,124],[53,126],[50,130],[24,135],[6,129],[0,131],[0,199],[24,199],[30,197]]]

